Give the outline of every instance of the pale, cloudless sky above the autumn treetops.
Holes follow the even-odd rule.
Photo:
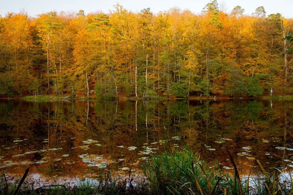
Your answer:
[[[2,2],[1,2],[2,1]],[[194,13],[199,13],[202,8],[209,3],[209,0],[120,0],[118,1],[125,9],[139,12],[144,8],[151,8],[151,11],[168,10],[171,7],[189,9]],[[226,4],[227,12],[239,5],[245,9],[245,13],[250,15],[259,6],[263,6],[267,15],[271,13],[282,13],[285,17],[293,17],[292,0],[218,0],[218,3]],[[84,10],[87,14],[92,11],[101,10],[105,13],[113,9],[117,0],[0,0],[0,14],[5,17],[7,12],[18,12],[25,9],[30,16],[49,11],[79,11]]]

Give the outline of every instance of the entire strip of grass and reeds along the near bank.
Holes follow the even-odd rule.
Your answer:
[[[97,178],[98,184],[87,180],[74,187],[56,184],[32,189],[29,183],[24,183],[18,194],[293,195],[290,171],[289,176],[286,176],[281,170],[274,167],[265,168],[255,160],[260,169],[257,172],[251,171],[248,176],[241,178],[228,150],[227,155],[233,164],[232,174],[222,172],[217,161],[205,162],[198,153],[184,147],[179,150],[173,149],[169,153],[152,155],[149,162],[141,165],[145,180],[136,184],[130,176],[123,180],[113,179],[109,171],[104,174],[101,172]],[[14,194],[17,182],[8,184],[5,181],[2,177],[0,194]]]

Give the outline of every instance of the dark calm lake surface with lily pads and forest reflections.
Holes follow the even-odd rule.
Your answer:
[[[184,145],[223,170],[232,167],[225,148],[242,174],[256,158],[290,169],[292,117],[292,101],[0,100],[0,169],[29,167],[43,177],[135,173],[151,152]]]

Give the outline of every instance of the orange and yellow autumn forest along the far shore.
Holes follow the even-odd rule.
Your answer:
[[[227,13],[25,11],[0,18],[0,95],[187,98],[293,93],[292,18]]]

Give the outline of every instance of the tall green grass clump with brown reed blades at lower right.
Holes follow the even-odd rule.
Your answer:
[[[292,178],[281,182],[284,174],[280,170],[267,172],[257,161],[263,173],[253,179],[251,172],[248,177],[240,178],[230,154],[229,157],[234,167],[233,174],[223,173],[217,161],[207,163],[200,160],[200,155],[188,147],[153,155],[151,161],[142,165],[150,186],[149,194],[293,194]]]

